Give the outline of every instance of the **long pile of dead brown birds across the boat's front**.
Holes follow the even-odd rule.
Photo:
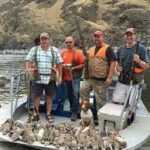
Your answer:
[[[28,144],[38,141],[65,150],[120,150],[126,147],[125,140],[119,135],[104,134],[89,126],[82,129],[71,123],[24,123],[8,120],[1,125],[0,132],[10,136],[13,141],[20,140]]]

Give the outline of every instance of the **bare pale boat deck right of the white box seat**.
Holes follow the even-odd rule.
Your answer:
[[[128,145],[125,150],[134,150],[141,147],[150,136],[150,113],[142,101],[138,104],[135,121],[126,129],[120,131]]]

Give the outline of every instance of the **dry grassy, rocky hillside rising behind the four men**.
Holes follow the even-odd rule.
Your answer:
[[[79,41],[76,20],[87,47],[95,30],[105,31],[107,42],[119,45],[130,26],[147,42],[150,0],[0,0],[0,18],[0,49],[31,47],[42,31],[58,47],[67,35]]]

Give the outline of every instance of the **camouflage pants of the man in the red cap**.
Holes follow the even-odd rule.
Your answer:
[[[85,79],[80,88],[80,96],[82,100],[89,100],[89,94],[94,91],[97,102],[97,110],[106,103],[106,86],[105,81],[96,79]]]

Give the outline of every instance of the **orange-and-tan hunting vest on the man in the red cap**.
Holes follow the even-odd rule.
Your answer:
[[[90,78],[106,78],[109,63],[106,57],[106,50],[109,45],[104,44],[95,54],[95,47],[89,50],[88,69]]]

